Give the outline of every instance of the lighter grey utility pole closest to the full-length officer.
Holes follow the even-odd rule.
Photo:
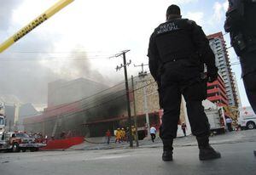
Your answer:
[[[148,75],[147,71],[144,71],[144,65],[148,65],[148,64],[143,64],[142,65],[134,65],[134,67],[142,67],[142,71],[140,71],[138,73],[138,76],[143,79],[145,76]],[[146,81],[141,81],[141,82],[146,82]],[[144,112],[146,115],[146,127],[147,127],[147,132],[148,132],[148,136],[150,133],[150,126],[149,126],[149,116],[148,116],[148,97],[147,97],[147,88],[144,87],[143,88],[143,99],[144,99]]]

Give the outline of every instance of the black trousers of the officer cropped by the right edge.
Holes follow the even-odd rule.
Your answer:
[[[256,113],[256,71],[243,76],[243,83],[247,93],[247,98],[254,110],[254,113]]]

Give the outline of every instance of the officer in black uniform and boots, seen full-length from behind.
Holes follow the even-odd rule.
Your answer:
[[[192,20],[182,19],[180,8],[171,5],[167,8],[166,22],[150,37],[148,58],[149,70],[160,88],[160,106],[164,109],[160,128],[163,161],[172,161],[172,141],[177,136],[182,94],[192,133],[198,141],[200,160],[219,158],[220,154],[209,145],[209,123],[201,104],[207,98],[207,80],[215,81],[218,69],[201,27]]]

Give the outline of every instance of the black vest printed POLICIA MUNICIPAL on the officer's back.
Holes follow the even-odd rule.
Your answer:
[[[172,59],[189,58],[195,54],[189,20],[170,20],[159,25],[155,31],[155,42],[163,63]]]

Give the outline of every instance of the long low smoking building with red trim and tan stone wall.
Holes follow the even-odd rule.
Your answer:
[[[162,110],[160,110],[158,86],[154,82],[154,78],[151,75],[143,78],[135,77],[134,84],[134,96],[130,91],[131,124],[135,124],[134,109],[136,108],[139,130],[143,132],[147,130],[147,116],[148,126],[154,125],[159,128]],[[131,88],[131,80],[129,80],[129,85]],[[113,131],[118,127],[128,127],[125,82],[105,89],[101,93],[90,95],[89,98],[79,99],[76,102],[49,107],[40,116],[24,119],[26,131],[39,132],[55,138],[59,138],[62,131],[73,136],[102,137],[108,129],[113,134]],[[216,108],[212,107],[216,104],[209,100],[205,100],[203,104],[206,109]],[[181,102],[179,124],[182,122],[186,123],[187,133],[190,134],[191,130],[184,100]],[[178,128],[177,136],[183,136],[181,126],[179,125]]]

